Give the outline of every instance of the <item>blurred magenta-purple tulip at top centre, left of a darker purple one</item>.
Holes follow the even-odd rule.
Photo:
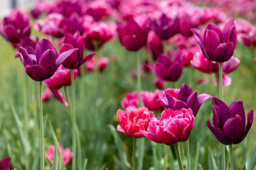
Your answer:
[[[142,26],[139,26],[134,18],[129,18],[126,26],[117,22],[117,33],[119,40],[129,51],[137,51],[144,45],[149,34],[149,26],[145,21]]]

